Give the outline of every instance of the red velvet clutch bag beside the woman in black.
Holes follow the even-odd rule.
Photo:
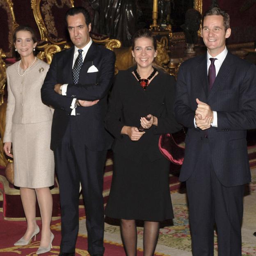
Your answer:
[[[162,134],[158,141],[160,152],[175,165],[182,165],[185,148],[178,146],[170,133]]]

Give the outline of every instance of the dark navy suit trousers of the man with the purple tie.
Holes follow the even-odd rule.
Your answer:
[[[193,256],[213,256],[214,224],[218,256],[241,256],[244,185],[224,187],[219,182],[206,138],[197,160],[186,181]]]

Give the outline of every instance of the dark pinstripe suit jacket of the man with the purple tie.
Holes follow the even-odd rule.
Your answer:
[[[217,128],[194,127],[196,98],[217,111]],[[217,178],[226,187],[250,182],[246,130],[256,128],[256,66],[228,53],[208,92],[207,56],[184,62],[178,73],[176,120],[188,129],[180,180],[186,181],[197,164],[203,137]]]

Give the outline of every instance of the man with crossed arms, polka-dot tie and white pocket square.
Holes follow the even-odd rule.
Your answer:
[[[59,255],[75,255],[81,183],[88,251],[100,256],[104,253],[103,167],[112,144],[103,119],[115,55],[91,41],[90,17],[83,7],[69,9],[66,22],[74,46],[54,55],[41,89],[42,101],[55,108],[51,149],[55,155],[62,215]]]

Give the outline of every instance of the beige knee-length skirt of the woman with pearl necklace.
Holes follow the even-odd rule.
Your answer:
[[[54,157],[50,150],[52,121],[12,124],[14,185],[40,188],[54,184]]]

